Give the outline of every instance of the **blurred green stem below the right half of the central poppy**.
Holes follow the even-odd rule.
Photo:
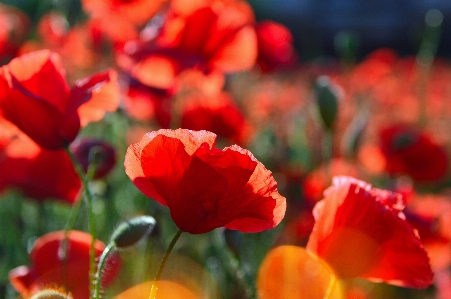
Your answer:
[[[212,232],[213,244],[219,254],[219,260],[226,271],[230,273],[235,282],[244,290],[245,298],[256,298],[255,288],[249,274],[242,270],[239,260],[231,252],[224,239],[223,229],[216,229]]]

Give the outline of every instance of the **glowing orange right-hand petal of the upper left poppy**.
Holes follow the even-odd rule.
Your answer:
[[[120,90],[116,71],[110,69],[77,81],[71,90],[72,95],[77,100],[86,99],[81,106],[76,106],[80,106],[78,114],[82,126],[101,120],[105,112],[114,112],[119,106]]]

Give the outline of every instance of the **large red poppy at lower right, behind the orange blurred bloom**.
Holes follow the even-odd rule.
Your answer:
[[[307,249],[341,278],[365,277],[404,287],[432,284],[429,258],[405,220],[399,194],[351,177],[334,177],[314,208]]]

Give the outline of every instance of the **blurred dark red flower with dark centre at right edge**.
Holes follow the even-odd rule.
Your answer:
[[[408,175],[417,182],[435,182],[447,174],[446,151],[426,133],[395,124],[379,135],[388,173]]]

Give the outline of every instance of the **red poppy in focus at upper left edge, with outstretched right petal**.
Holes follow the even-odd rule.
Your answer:
[[[48,50],[15,58],[1,69],[1,113],[46,149],[72,142],[83,118],[80,108],[90,100],[103,100],[98,95],[102,89],[117,85],[112,70],[81,79],[72,89],[64,74],[60,56]]]

